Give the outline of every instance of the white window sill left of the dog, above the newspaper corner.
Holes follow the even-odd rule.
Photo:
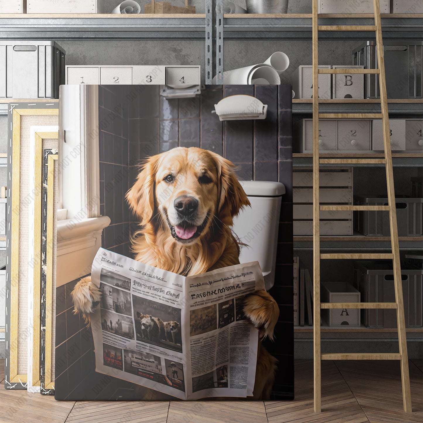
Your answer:
[[[93,247],[101,239],[102,231],[110,225],[108,216],[91,217],[75,221],[57,221],[57,255]]]

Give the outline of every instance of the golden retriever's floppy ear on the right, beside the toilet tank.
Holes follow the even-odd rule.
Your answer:
[[[244,206],[250,206],[241,184],[236,178],[236,166],[228,159],[214,153],[220,181],[220,197],[217,215],[225,225],[233,225],[233,218]]]

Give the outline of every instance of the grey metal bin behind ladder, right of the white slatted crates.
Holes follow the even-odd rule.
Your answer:
[[[398,236],[422,236],[423,198],[397,195]],[[357,206],[387,206],[383,195],[354,195]],[[388,211],[354,211],[354,230],[366,236],[390,236]]]

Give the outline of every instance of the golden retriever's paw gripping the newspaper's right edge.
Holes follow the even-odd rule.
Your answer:
[[[255,291],[244,299],[244,314],[258,328],[261,338],[273,339],[273,330],[279,317],[279,307],[267,291]]]

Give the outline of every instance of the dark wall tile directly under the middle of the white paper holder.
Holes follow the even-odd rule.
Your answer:
[[[231,162],[253,161],[253,122],[226,121],[224,155]]]

